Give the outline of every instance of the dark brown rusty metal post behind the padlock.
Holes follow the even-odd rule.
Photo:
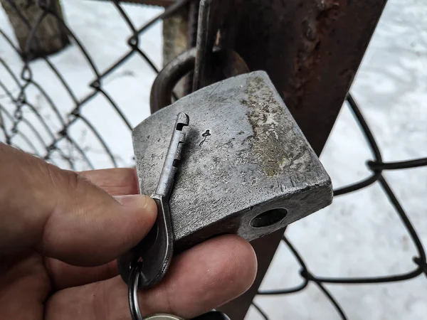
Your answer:
[[[319,155],[347,95],[386,0],[246,0],[221,46],[251,70],[265,70]],[[236,14],[234,12],[233,14]],[[282,231],[252,242],[258,255],[253,287],[223,306],[243,319]]]

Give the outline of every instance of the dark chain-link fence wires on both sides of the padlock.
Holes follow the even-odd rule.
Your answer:
[[[19,90],[14,91],[0,78],[0,88],[3,91],[2,97],[7,97],[9,99],[10,104],[14,106],[14,111],[11,112],[10,110],[8,110],[9,108],[6,108],[5,105],[1,104],[0,100],[0,132],[2,132],[3,134],[3,137],[1,137],[1,139],[6,144],[10,144],[21,149],[26,149],[26,151],[29,151],[35,154],[36,156],[40,156],[41,158],[46,159],[47,161],[51,161],[53,162],[53,164],[58,164],[58,159],[60,159],[62,160],[59,161],[60,165],[64,166],[63,161],[65,161],[65,164],[70,169],[75,169],[75,161],[77,161],[75,153],[77,153],[78,161],[84,161],[89,168],[93,169],[95,168],[95,166],[85,154],[85,148],[83,146],[80,146],[80,144],[75,140],[75,138],[73,138],[72,135],[69,134],[70,128],[73,127],[73,125],[75,125],[76,123],[81,122],[85,124],[85,127],[90,132],[92,132],[95,135],[96,139],[100,142],[100,145],[102,146],[102,154],[107,156],[112,166],[117,166],[117,157],[112,153],[110,147],[108,146],[102,135],[97,132],[97,128],[95,127],[95,125],[90,121],[90,119],[88,119],[88,117],[83,116],[82,109],[94,97],[102,95],[110,103],[110,106],[115,110],[115,112],[117,112],[117,117],[122,119],[123,122],[125,122],[129,130],[132,129],[130,121],[125,117],[125,114],[122,112],[120,107],[114,102],[114,100],[112,100],[110,95],[104,89],[102,81],[105,77],[107,77],[107,75],[114,73],[115,70],[117,70],[120,65],[125,63],[126,60],[130,59],[132,56],[135,55],[142,58],[152,68],[152,70],[154,70],[155,73],[158,73],[159,70],[157,70],[157,67],[154,65],[152,60],[150,60],[147,54],[144,53],[144,51],[140,48],[139,36],[145,31],[147,31],[149,27],[154,25],[154,23],[157,23],[158,21],[164,18],[168,18],[176,14],[176,12],[179,11],[182,6],[185,6],[189,2],[189,0],[175,1],[174,4],[169,6],[162,14],[159,14],[158,16],[152,18],[150,21],[145,23],[143,26],[140,26],[139,28],[137,28],[137,26],[135,26],[131,22],[130,17],[127,16],[125,10],[123,10],[120,1],[112,1],[112,4],[114,4],[115,9],[117,9],[117,12],[120,14],[122,19],[125,21],[125,23],[127,23],[127,26],[132,31],[132,36],[126,39],[127,45],[129,46],[129,50],[127,51],[127,53],[125,55],[122,55],[120,59],[115,61],[115,63],[110,65],[109,68],[105,69],[102,72],[96,68],[93,58],[89,55],[88,51],[79,41],[78,36],[75,35],[73,31],[68,28],[68,26],[62,20],[61,16],[57,13],[57,11],[53,11],[51,9],[51,6],[48,5],[49,1],[27,1],[28,6],[39,6],[39,8],[43,9],[41,11],[41,14],[38,15],[36,23],[32,24],[28,21],[26,16],[22,14],[22,12],[20,11],[21,9],[19,6],[16,5],[16,2],[18,1],[2,1],[2,3],[4,4],[9,4],[11,9],[13,9],[16,13],[16,16],[19,16],[21,21],[25,23],[25,26],[26,28],[28,28],[28,33],[30,34],[30,36],[28,37],[26,43],[26,51],[22,52],[20,48],[14,45],[14,41],[12,41],[12,39],[7,36],[3,30],[0,29],[1,36],[6,39],[7,43],[9,43],[9,45],[14,48],[14,50],[16,50],[17,54],[23,57],[24,61],[21,73],[16,74],[14,73],[12,68],[6,63],[6,61],[0,56],[0,65],[4,69],[4,71],[2,71],[2,74],[6,72],[13,79],[14,85],[19,88]],[[83,53],[83,55],[88,61],[88,64],[90,65],[90,68],[96,75],[95,80],[93,80],[93,82],[91,82],[89,85],[92,92],[90,92],[90,94],[85,97],[78,97],[77,95],[75,95],[73,88],[70,87],[63,75],[61,75],[60,70],[56,68],[55,63],[51,61],[51,58],[48,58],[47,56],[39,57],[46,62],[48,68],[50,68],[51,71],[53,71],[53,73],[56,75],[56,85],[62,86],[73,100],[74,108],[65,117],[59,111],[58,102],[54,101],[54,99],[51,98],[50,95],[48,95],[46,90],[43,89],[43,83],[37,82],[34,79],[33,70],[30,64],[31,59],[34,58],[34,53],[31,52],[31,48],[33,48],[33,42],[37,41],[34,35],[36,35],[37,29],[41,25],[43,20],[48,17],[55,18],[56,21],[58,21],[58,23],[60,24],[61,28],[65,28],[65,30],[68,32],[68,35],[73,41],[73,45],[77,46],[81,50],[81,53]],[[39,94],[46,99],[48,105],[51,107],[51,110],[58,118],[60,127],[53,128],[38,110],[38,107],[36,107],[36,103],[27,99],[26,92],[30,90],[30,88],[32,88],[31,90],[38,90]],[[399,162],[383,161],[381,151],[379,149],[378,144],[376,143],[373,134],[371,133],[371,130],[369,129],[369,125],[365,121],[364,117],[362,116],[362,112],[360,111],[359,107],[357,106],[357,103],[354,101],[351,95],[348,95],[347,102],[352,110],[352,113],[354,114],[355,119],[357,119],[359,127],[361,127],[362,129],[369,148],[371,149],[373,160],[367,161],[367,166],[371,171],[371,176],[369,176],[369,178],[366,178],[363,181],[359,181],[352,185],[345,186],[344,188],[334,190],[334,196],[343,196],[344,194],[351,193],[353,191],[357,191],[361,188],[367,187],[372,183],[379,183],[384,193],[386,193],[386,196],[389,199],[390,203],[396,210],[396,214],[399,215],[401,223],[406,228],[406,231],[408,235],[410,235],[413,244],[416,246],[418,254],[416,257],[413,257],[413,270],[409,270],[408,272],[402,274],[391,274],[385,277],[340,278],[316,276],[315,274],[312,274],[312,272],[310,272],[310,268],[305,264],[303,257],[298,253],[297,247],[295,247],[295,245],[292,245],[292,243],[288,240],[286,234],[284,234],[283,242],[285,242],[285,244],[289,247],[290,251],[293,255],[295,255],[297,261],[300,264],[299,277],[302,279],[302,282],[297,287],[258,292],[258,294],[260,295],[292,294],[304,290],[307,285],[312,282],[317,287],[319,287],[319,289],[325,294],[325,297],[330,300],[330,302],[333,304],[334,308],[337,310],[337,313],[341,316],[342,319],[347,319],[344,309],[342,309],[342,307],[339,305],[339,302],[337,302],[337,300],[332,297],[332,294],[325,288],[324,284],[379,284],[384,282],[404,281],[412,279],[414,277],[418,277],[421,274],[425,274],[427,276],[426,252],[423,248],[423,245],[421,244],[421,241],[418,238],[416,230],[413,228],[413,224],[411,224],[411,221],[408,219],[404,208],[399,203],[391,187],[389,186],[389,183],[387,183],[386,179],[382,174],[384,170],[401,170],[415,168],[418,166],[427,166],[427,158]],[[28,114],[32,114],[33,116],[35,116],[36,121],[28,119]],[[23,129],[23,127],[26,127],[26,129]],[[41,134],[41,130],[46,130],[48,134]],[[31,133],[31,136],[28,134],[28,132]],[[44,152],[40,152],[38,150],[39,148],[35,146],[36,143],[40,143],[41,145],[43,145]],[[26,146],[23,147],[23,144],[26,144]],[[260,309],[257,304],[253,304],[253,306],[255,306],[255,309],[259,311],[260,315],[263,316],[263,318],[268,319],[268,314],[266,314],[265,311]]]

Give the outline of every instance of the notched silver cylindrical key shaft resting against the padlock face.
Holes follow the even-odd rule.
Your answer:
[[[157,184],[156,194],[168,197],[174,186],[174,176],[179,160],[181,159],[181,149],[185,140],[185,132],[182,129],[189,125],[189,116],[184,112],[179,112],[176,117],[174,131],[171,142],[167,150],[166,158]]]

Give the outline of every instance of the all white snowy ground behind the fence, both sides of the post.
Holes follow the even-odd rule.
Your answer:
[[[130,31],[111,4],[100,1],[63,0],[68,25],[93,56],[97,68],[105,70],[128,50],[125,38]],[[141,26],[159,9],[125,6],[132,21]],[[427,156],[427,3],[424,0],[389,0],[376,29],[352,93],[362,106],[386,161]],[[13,36],[6,16],[0,10],[0,29]],[[161,24],[140,38],[142,49],[161,65]],[[0,36],[0,58],[19,74],[21,60]],[[76,46],[55,55],[51,61],[70,83],[79,99],[90,93],[88,84],[93,72]],[[46,63],[31,64],[35,80],[41,83],[62,114],[74,103],[46,68]],[[14,81],[0,65],[0,80],[14,95],[19,93]],[[154,73],[135,56],[112,73],[103,87],[117,102],[132,126],[149,114],[149,87]],[[29,87],[31,100],[48,124],[60,128],[58,119],[45,98]],[[14,105],[0,87],[0,106],[13,114]],[[120,165],[132,163],[130,132],[117,117],[105,98],[99,96],[83,107],[83,114],[105,137]],[[31,112],[24,112],[38,128],[41,125]],[[10,124],[4,116],[6,127]],[[28,133],[28,128],[20,127]],[[40,134],[48,137],[43,129]],[[29,134],[29,133],[28,133]],[[88,152],[97,168],[111,166],[102,147],[81,122],[70,128],[70,134]],[[0,139],[4,137],[0,134]],[[31,151],[23,140],[16,143]],[[44,147],[34,142],[38,151]],[[74,152],[74,151],[73,151]],[[76,159],[80,159],[75,154]],[[321,160],[332,176],[334,187],[358,181],[369,172],[364,162],[371,159],[356,122],[344,107]],[[60,160],[56,159],[60,162]],[[60,162],[61,164],[62,163]],[[78,169],[87,169],[78,161]],[[427,169],[410,169],[386,173],[391,187],[427,245]],[[416,250],[398,216],[374,185],[357,193],[336,198],[329,208],[300,220],[288,229],[297,250],[316,275],[356,277],[396,274],[412,270]],[[298,265],[285,246],[275,255],[273,265],[263,282],[263,289],[290,287],[299,283]],[[382,285],[328,285],[349,319],[426,319],[427,281],[418,277],[408,282]],[[258,297],[258,304],[271,319],[339,319],[332,305],[319,290],[310,285],[298,294],[285,297]],[[248,319],[260,319],[256,311]]]

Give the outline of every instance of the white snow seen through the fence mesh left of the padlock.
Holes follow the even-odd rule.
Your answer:
[[[156,7],[145,8],[135,5],[124,7],[136,26],[141,26],[144,21],[148,21],[153,16],[162,12],[161,9]],[[127,45],[127,38],[132,35],[132,32],[125,21],[120,18],[120,14],[115,9],[115,6],[110,2],[63,1],[63,12],[69,28],[78,37],[78,41],[83,43],[85,50],[92,57],[98,73],[102,73],[110,68],[110,65],[130,51],[130,47]],[[0,14],[0,29],[5,31],[6,35],[10,38],[14,38],[14,33],[9,26],[9,21],[4,11],[0,11]],[[140,47],[154,60],[158,68],[162,63],[161,37],[161,23],[153,26],[149,33],[139,37]],[[22,68],[19,56],[14,53],[14,50],[1,36],[0,41],[0,57],[9,66],[13,67],[12,70],[19,77]],[[73,95],[78,101],[83,100],[93,92],[89,84],[96,79],[95,72],[90,68],[88,60],[78,46],[69,46],[61,53],[51,56],[49,60],[51,60],[51,63],[55,65],[61,75],[63,75],[65,81],[68,82]],[[66,119],[67,114],[74,109],[76,102],[65,90],[65,87],[58,82],[56,75],[48,68],[48,65],[43,60],[31,63],[31,70],[33,79],[40,83],[43,89],[48,92],[48,95]],[[18,95],[19,88],[6,73],[6,70],[1,68],[1,65],[0,72],[2,75],[1,81],[15,95]],[[154,71],[136,53],[120,65],[120,68],[117,68],[114,73],[110,73],[110,75],[102,80],[102,88],[120,110],[122,110],[132,127],[135,127],[135,125],[149,115],[149,88],[154,80],[154,76]],[[28,87],[26,93],[28,100],[35,104],[45,119],[48,119],[48,125],[56,130],[60,129],[61,126],[58,117],[55,116],[48,106],[46,98],[32,85]],[[1,105],[13,111],[14,105],[11,104],[9,98],[4,97],[2,94],[3,92],[0,92]],[[28,117],[28,119],[33,117],[32,113],[30,110],[24,109],[25,117]],[[104,97],[102,94],[96,95],[92,100],[83,105],[81,113],[100,132],[107,145],[112,149],[112,153],[119,159],[118,164],[120,166],[129,166],[132,164],[133,151],[130,130],[125,122],[118,117],[117,112],[110,102],[108,102],[107,97]],[[36,127],[41,127],[37,120],[36,123]],[[25,131],[25,126],[23,128],[20,127],[20,130]],[[44,130],[41,130],[40,133],[43,139],[51,141]],[[83,146],[82,149],[88,154],[90,161],[93,162],[96,168],[112,166],[110,159],[105,156],[102,145],[83,122],[75,122],[70,127],[69,134],[75,139],[75,142]],[[0,139],[4,138],[1,137]],[[26,151],[32,151],[24,143],[19,144],[16,142],[16,144]],[[83,161],[82,156],[78,154],[78,151],[70,146],[69,143],[63,140],[59,146],[65,148],[65,150],[70,150],[73,159],[77,161],[76,169],[90,169],[88,164]],[[44,154],[44,149],[46,149],[44,146],[39,145],[38,151],[41,154]],[[65,161],[60,160],[58,154],[56,154],[55,160],[63,166],[67,165]]]

